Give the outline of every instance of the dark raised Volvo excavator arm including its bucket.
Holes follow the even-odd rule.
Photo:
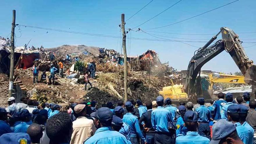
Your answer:
[[[222,39],[211,45],[220,33],[222,34]],[[239,70],[245,76],[244,81],[248,84],[255,84],[256,66],[253,65],[253,61],[249,60],[241,43],[238,35],[233,30],[222,27],[205,46],[195,51],[196,54],[191,58],[187,69],[184,91],[189,96],[195,94],[195,81],[198,74],[200,76],[202,66],[224,50],[230,54]]]

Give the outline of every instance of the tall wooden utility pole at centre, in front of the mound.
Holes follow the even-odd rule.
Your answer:
[[[123,33],[123,50],[124,50],[124,75],[125,75],[125,98],[124,101],[127,102],[127,56],[126,56],[126,33],[125,33],[125,14],[123,13],[121,15],[121,19],[122,19],[122,24],[121,24],[121,28],[122,28],[122,33]]]

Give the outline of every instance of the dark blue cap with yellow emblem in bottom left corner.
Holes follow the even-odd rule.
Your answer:
[[[30,144],[31,140],[29,134],[27,133],[7,133],[0,136],[1,143],[10,143],[10,144]]]

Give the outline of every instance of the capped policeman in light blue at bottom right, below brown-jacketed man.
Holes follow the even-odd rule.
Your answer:
[[[246,127],[246,129],[248,129],[248,131],[250,131],[250,137],[249,137],[249,143],[248,144],[253,144],[253,135],[254,135],[254,129],[253,127],[251,127],[247,122],[246,122],[246,117],[247,117],[247,113],[248,113],[248,108],[247,106],[243,105],[243,104],[239,104],[238,105],[240,107],[240,113],[239,113],[239,122],[241,123],[242,126]]]

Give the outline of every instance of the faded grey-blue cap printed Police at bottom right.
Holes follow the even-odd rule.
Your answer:
[[[235,130],[236,127],[232,122],[228,122],[225,119],[218,120],[212,127],[212,139],[210,144],[218,144],[222,138],[225,138]]]

